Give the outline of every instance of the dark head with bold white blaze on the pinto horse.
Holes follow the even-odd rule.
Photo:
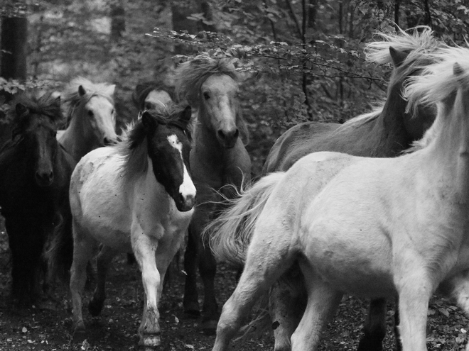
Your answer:
[[[159,110],[154,112],[156,115],[153,111],[145,111],[141,117],[153,173],[178,210],[189,211],[195,204],[195,186],[189,174],[190,107],[177,110],[169,119],[158,118]]]

